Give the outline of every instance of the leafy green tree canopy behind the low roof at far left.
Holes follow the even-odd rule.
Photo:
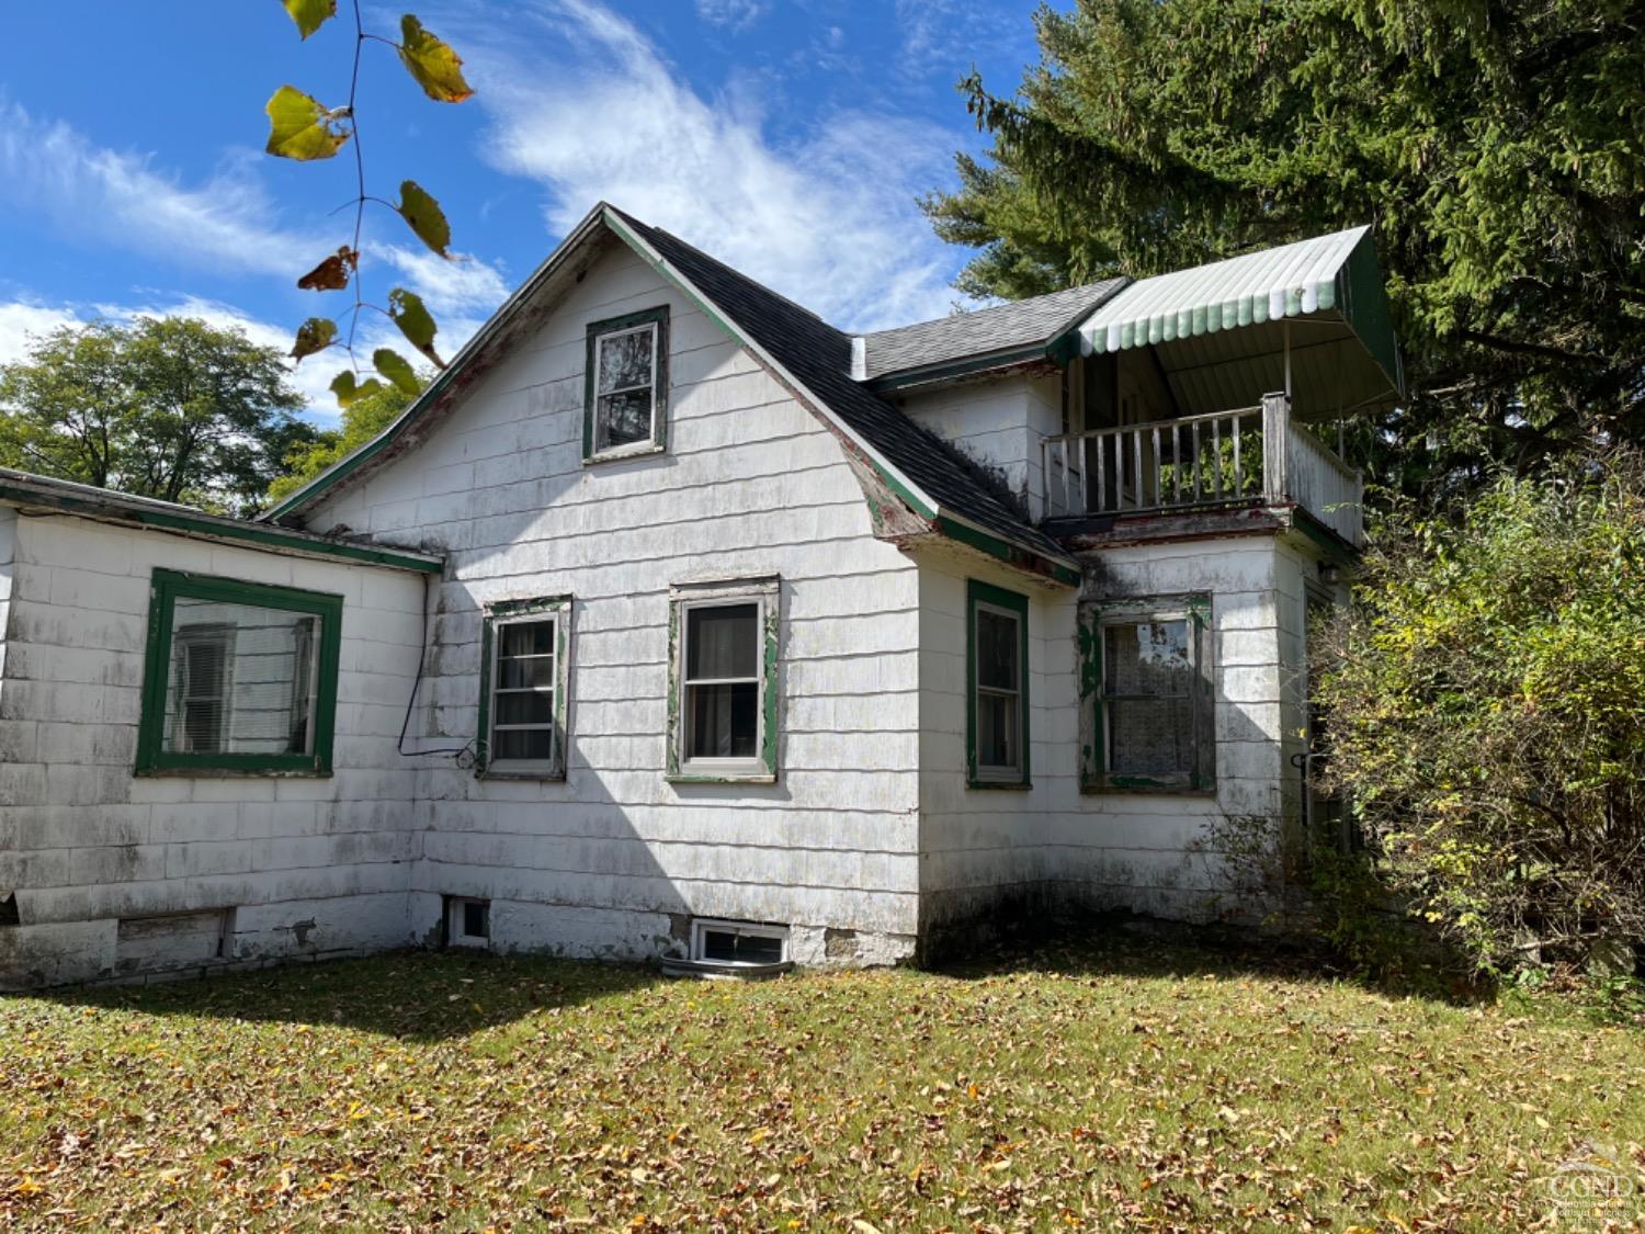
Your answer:
[[[253,513],[316,429],[275,347],[197,318],[94,321],[0,365],[0,461],[105,489]]]

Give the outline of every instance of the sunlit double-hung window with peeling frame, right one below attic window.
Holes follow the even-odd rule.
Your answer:
[[[776,579],[673,589],[670,778],[776,778]]]

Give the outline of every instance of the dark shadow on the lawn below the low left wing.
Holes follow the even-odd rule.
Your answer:
[[[293,963],[257,972],[151,986],[59,989],[33,995],[64,1007],[290,1025],[337,1025],[439,1041],[535,1012],[630,994],[663,977],[638,964],[393,951],[367,959]]]

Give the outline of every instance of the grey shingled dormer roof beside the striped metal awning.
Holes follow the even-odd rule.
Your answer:
[[[870,383],[906,385],[931,369],[979,360],[975,369],[1043,359],[1046,344],[1112,299],[1128,278],[1105,278],[1010,304],[956,313],[936,321],[862,336],[857,375]]]

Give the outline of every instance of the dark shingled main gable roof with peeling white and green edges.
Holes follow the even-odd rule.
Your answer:
[[[415,443],[418,421],[434,406],[452,405],[464,370],[487,359],[487,352],[503,341],[533,293],[558,271],[574,265],[574,257],[602,229],[633,248],[748,347],[791,393],[841,429],[892,490],[938,530],[1005,559],[1020,563],[1028,558],[1028,564],[1038,573],[1064,582],[1077,581],[1077,563],[1000,500],[952,446],[852,380],[849,334],[684,240],[605,202],[572,229],[393,424],[262,518],[290,518],[339,482],[364,476],[392,457],[396,448]]]

